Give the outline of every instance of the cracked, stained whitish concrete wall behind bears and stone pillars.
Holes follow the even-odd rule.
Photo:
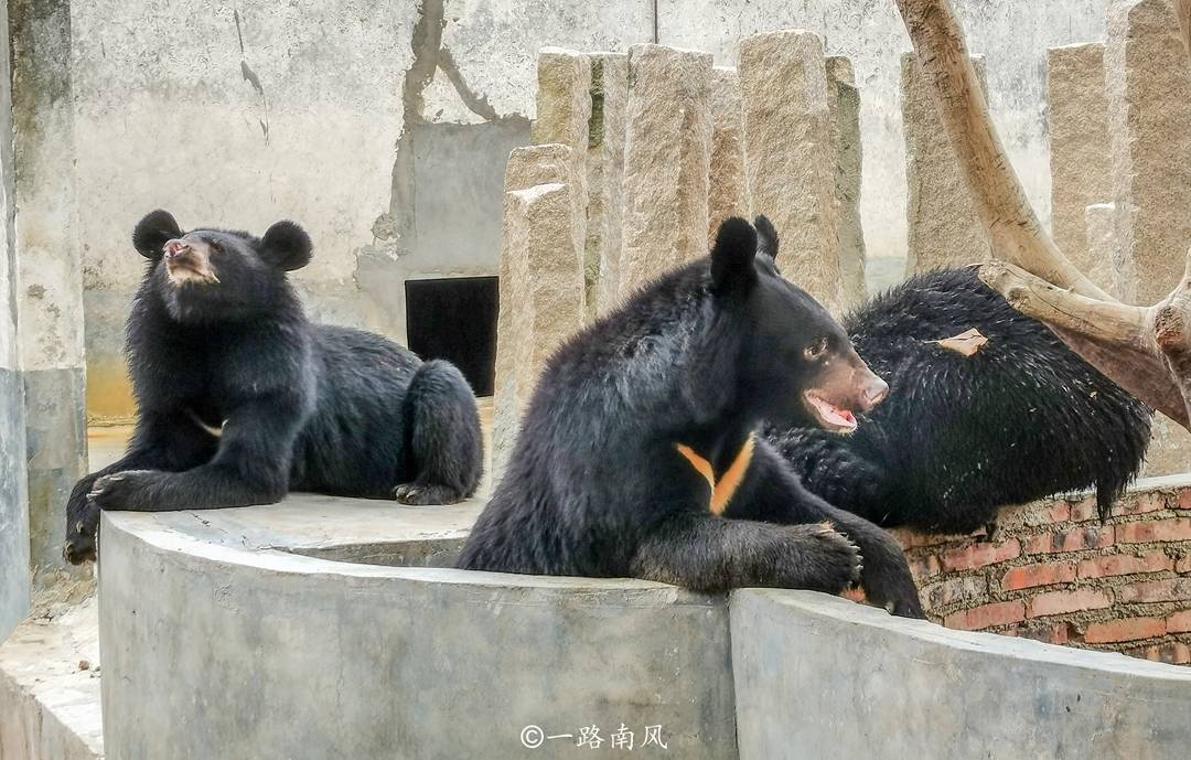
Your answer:
[[[131,411],[120,330],[144,212],[183,225],[307,225],[299,273],[322,319],[405,334],[409,278],[497,273],[504,161],[529,142],[536,51],[625,50],[655,37],[735,66],[736,41],[805,27],[853,58],[874,256],[905,254],[892,2],[873,0],[266,0],[75,2],[69,108],[75,237],[93,416]],[[1036,205],[1049,199],[1046,48],[1103,37],[1106,0],[958,2],[987,51],[992,108]],[[67,8],[67,6],[69,6]]]

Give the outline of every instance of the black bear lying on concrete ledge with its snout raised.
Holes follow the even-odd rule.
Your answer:
[[[121,460],[75,485],[69,561],[94,559],[104,509],[268,504],[289,488],[405,504],[475,491],[467,381],[376,335],[308,322],[286,279],[310,261],[300,226],[183,233],[154,211],[132,244],[149,260],[126,328],[136,431]]]

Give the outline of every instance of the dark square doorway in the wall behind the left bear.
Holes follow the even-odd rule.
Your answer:
[[[405,281],[410,350],[459,367],[476,395],[492,395],[497,362],[497,278]]]

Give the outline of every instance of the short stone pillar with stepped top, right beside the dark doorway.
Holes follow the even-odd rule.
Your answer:
[[[586,312],[584,223],[570,189],[579,182],[572,154],[559,144],[518,148],[505,169],[492,422],[495,478],[504,473],[545,359],[582,325]]]

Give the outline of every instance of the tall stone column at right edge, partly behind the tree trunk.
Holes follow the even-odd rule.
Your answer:
[[[1191,248],[1191,66],[1170,0],[1115,0],[1104,79],[1116,245],[1133,263],[1134,303],[1155,304]],[[1147,475],[1191,471],[1191,434],[1154,416]]]

